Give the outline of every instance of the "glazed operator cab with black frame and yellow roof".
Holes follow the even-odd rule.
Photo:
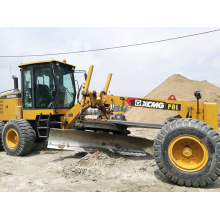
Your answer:
[[[76,89],[75,66],[65,61],[39,61],[19,65],[23,109],[70,109]]]

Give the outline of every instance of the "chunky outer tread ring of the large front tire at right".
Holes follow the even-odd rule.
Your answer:
[[[162,145],[165,141],[166,136],[176,130],[176,129],[195,129],[203,133],[206,133],[204,141],[207,141],[207,138],[212,141],[215,146],[216,151],[216,162],[214,167],[203,177],[198,179],[182,179],[179,176],[176,176],[175,173],[170,170],[169,167],[163,161],[162,157]],[[205,187],[207,185],[213,184],[214,181],[220,176],[220,136],[219,134],[208,124],[196,120],[196,119],[177,119],[166,124],[158,133],[155,142],[154,142],[154,158],[158,168],[161,172],[173,183],[180,186],[187,187]]]

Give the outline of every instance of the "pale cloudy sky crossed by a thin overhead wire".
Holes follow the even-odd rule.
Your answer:
[[[88,50],[178,37],[208,28],[0,28],[0,55],[28,55]],[[13,87],[20,63],[66,59],[77,69],[94,65],[91,90],[104,87],[113,73],[110,92],[143,97],[167,77],[179,73],[220,86],[220,32],[107,51],[44,57],[0,58],[1,91]],[[11,66],[11,70],[10,70]],[[83,77],[76,76],[83,82]],[[4,80],[3,80],[4,79]]]

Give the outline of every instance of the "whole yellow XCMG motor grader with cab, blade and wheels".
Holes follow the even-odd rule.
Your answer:
[[[220,137],[217,104],[132,98],[107,94],[112,74],[102,91],[89,91],[93,66],[85,74],[82,98],[76,88],[75,66],[57,60],[19,65],[14,89],[0,94],[0,148],[11,156],[27,155],[35,141],[49,137],[48,147],[101,148],[113,151],[154,148],[159,169],[178,185],[204,187],[220,175]],[[181,89],[181,88],[180,88]],[[131,122],[115,114],[114,106],[175,111],[166,123]],[[85,119],[88,108],[100,110],[95,120]],[[129,127],[160,129],[154,142],[129,136]]]

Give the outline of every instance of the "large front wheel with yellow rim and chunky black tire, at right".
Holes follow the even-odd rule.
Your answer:
[[[154,157],[171,182],[204,187],[220,176],[220,136],[202,121],[178,119],[158,133]]]

